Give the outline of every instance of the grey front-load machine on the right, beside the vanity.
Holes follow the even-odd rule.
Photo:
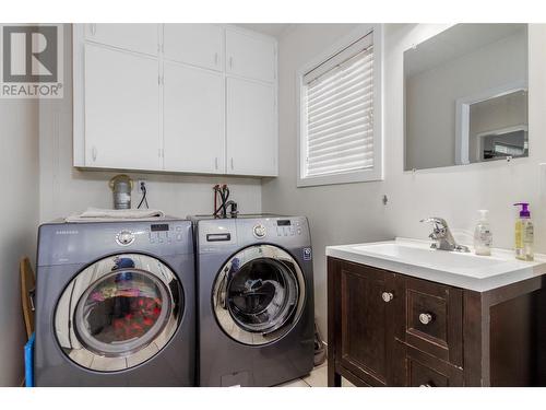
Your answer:
[[[302,216],[190,218],[200,386],[273,386],[313,366],[313,285]]]

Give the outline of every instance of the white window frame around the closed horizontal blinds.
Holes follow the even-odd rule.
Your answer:
[[[306,85],[304,77],[331,57],[359,38],[373,32],[373,167],[346,173],[305,176],[307,120],[305,101]],[[296,72],[297,106],[297,187],[311,187],[334,184],[365,183],[383,180],[383,30],[381,24],[363,24],[348,35],[330,46],[327,50],[304,65]]]

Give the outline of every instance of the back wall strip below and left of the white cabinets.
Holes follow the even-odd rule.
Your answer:
[[[71,26],[64,27],[64,98],[41,101],[40,128],[40,222],[67,216],[87,207],[111,208],[108,180],[119,172],[80,171],[72,167],[72,42]],[[185,176],[167,174],[129,174],[147,181],[149,203],[170,215],[185,218],[211,213],[212,186],[227,183],[230,199],[245,213],[261,211],[261,181],[257,178]],[[134,188],[132,202],[140,195]]]

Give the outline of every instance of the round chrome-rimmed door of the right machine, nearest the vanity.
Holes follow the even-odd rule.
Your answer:
[[[294,327],[305,298],[305,278],[296,260],[276,246],[256,245],[222,267],[212,304],[230,338],[260,345],[281,339]]]

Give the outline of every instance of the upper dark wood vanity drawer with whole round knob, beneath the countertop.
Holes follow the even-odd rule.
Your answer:
[[[408,277],[397,279],[402,298],[396,337],[435,358],[463,364],[463,305],[458,288]]]

